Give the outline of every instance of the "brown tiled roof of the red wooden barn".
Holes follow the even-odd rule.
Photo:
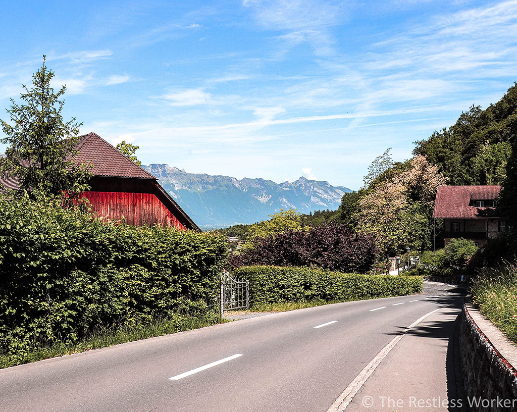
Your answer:
[[[155,176],[147,173],[93,132],[79,138],[77,149],[79,152],[73,160],[77,163],[92,164],[94,176],[156,180]]]

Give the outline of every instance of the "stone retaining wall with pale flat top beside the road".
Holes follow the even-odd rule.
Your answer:
[[[517,411],[517,346],[469,303],[460,322],[460,356],[466,410]]]

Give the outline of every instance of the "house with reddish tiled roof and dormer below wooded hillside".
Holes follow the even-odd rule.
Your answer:
[[[497,209],[500,190],[496,185],[438,187],[433,218],[444,219],[445,246],[454,238],[483,246],[486,239],[508,230],[508,222]]]

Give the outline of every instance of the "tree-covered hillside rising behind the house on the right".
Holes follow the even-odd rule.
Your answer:
[[[517,188],[517,170],[511,166],[517,162],[516,137],[514,85],[485,110],[472,106],[454,125],[416,142],[413,158],[395,162],[388,148],[370,165],[363,188],[343,195],[339,209],[321,210],[297,219],[301,227],[344,223],[356,233],[374,237],[379,264],[406,247],[416,253],[430,250],[438,186],[506,184],[506,204],[511,208],[517,195],[517,190],[512,189]],[[441,223],[437,221],[438,247],[442,246]],[[222,232],[249,239],[254,236],[253,227],[258,226],[234,226]]]

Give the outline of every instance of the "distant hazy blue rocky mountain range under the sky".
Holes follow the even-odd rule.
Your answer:
[[[160,185],[205,230],[258,222],[280,209],[294,208],[300,213],[334,210],[339,207],[343,194],[351,191],[305,177],[277,184],[262,178],[239,180],[187,173],[168,164],[142,167],[156,176]]]

